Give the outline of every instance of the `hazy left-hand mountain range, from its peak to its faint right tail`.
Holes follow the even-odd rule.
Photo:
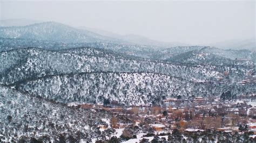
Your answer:
[[[102,32],[100,30],[95,30],[92,28],[75,28],[56,22],[36,23],[25,26],[6,26],[8,25],[6,24],[7,22],[2,21],[1,23],[4,27],[0,27],[0,37],[3,38],[48,40],[65,43],[105,42],[130,45],[149,45],[159,47],[170,47],[179,45],[159,42],[139,35],[117,35],[110,32]]]

